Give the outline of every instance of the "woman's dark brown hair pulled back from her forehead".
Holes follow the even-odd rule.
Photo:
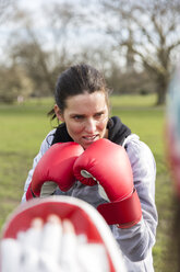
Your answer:
[[[106,86],[104,76],[89,65],[75,65],[59,76],[55,90],[55,100],[61,112],[63,112],[69,97],[95,91],[105,92],[106,102],[109,106],[109,89]],[[51,118],[56,117],[53,110],[48,115],[52,115]]]

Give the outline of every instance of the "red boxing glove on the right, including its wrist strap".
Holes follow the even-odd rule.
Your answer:
[[[74,175],[82,183],[98,183],[105,190],[110,203],[101,204],[97,209],[107,224],[128,228],[140,222],[141,203],[123,147],[108,139],[99,139],[76,159],[73,169]]]

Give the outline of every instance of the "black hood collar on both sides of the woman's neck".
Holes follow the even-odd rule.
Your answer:
[[[124,139],[131,134],[131,129],[118,116],[109,118],[107,128],[109,131],[108,139],[118,145],[122,145]],[[65,123],[62,123],[57,127],[51,145],[67,141],[73,141],[73,139],[68,134]]]

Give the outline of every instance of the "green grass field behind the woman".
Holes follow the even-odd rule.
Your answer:
[[[155,271],[176,271],[167,260],[168,234],[173,216],[172,188],[165,159],[165,110],[154,106],[155,97],[112,97],[112,115],[139,134],[152,149],[157,163],[156,204],[159,215],[154,247]],[[0,105],[0,227],[20,204],[23,186],[41,140],[55,125],[46,117],[52,100],[32,100],[21,105]]]

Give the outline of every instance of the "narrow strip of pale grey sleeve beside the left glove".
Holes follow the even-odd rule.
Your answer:
[[[22,202],[25,202],[26,201],[26,197],[25,197],[25,194],[26,194],[26,191],[28,189],[28,185],[32,181],[32,177],[33,177],[33,172],[38,163],[38,161],[40,160],[40,158],[44,156],[44,154],[49,149],[49,147],[51,146],[51,143],[52,143],[52,139],[53,139],[53,134],[55,134],[55,131],[51,131],[47,136],[46,138],[44,139],[44,141],[41,143],[41,146],[40,146],[40,149],[39,149],[39,152],[37,154],[37,156],[34,158],[34,161],[33,161],[33,168],[29,170],[28,172],[28,175],[27,175],[27,179],[25,181],[25,185],[24,185],[24,194],[23,194],[23,197],[22,197]]]

